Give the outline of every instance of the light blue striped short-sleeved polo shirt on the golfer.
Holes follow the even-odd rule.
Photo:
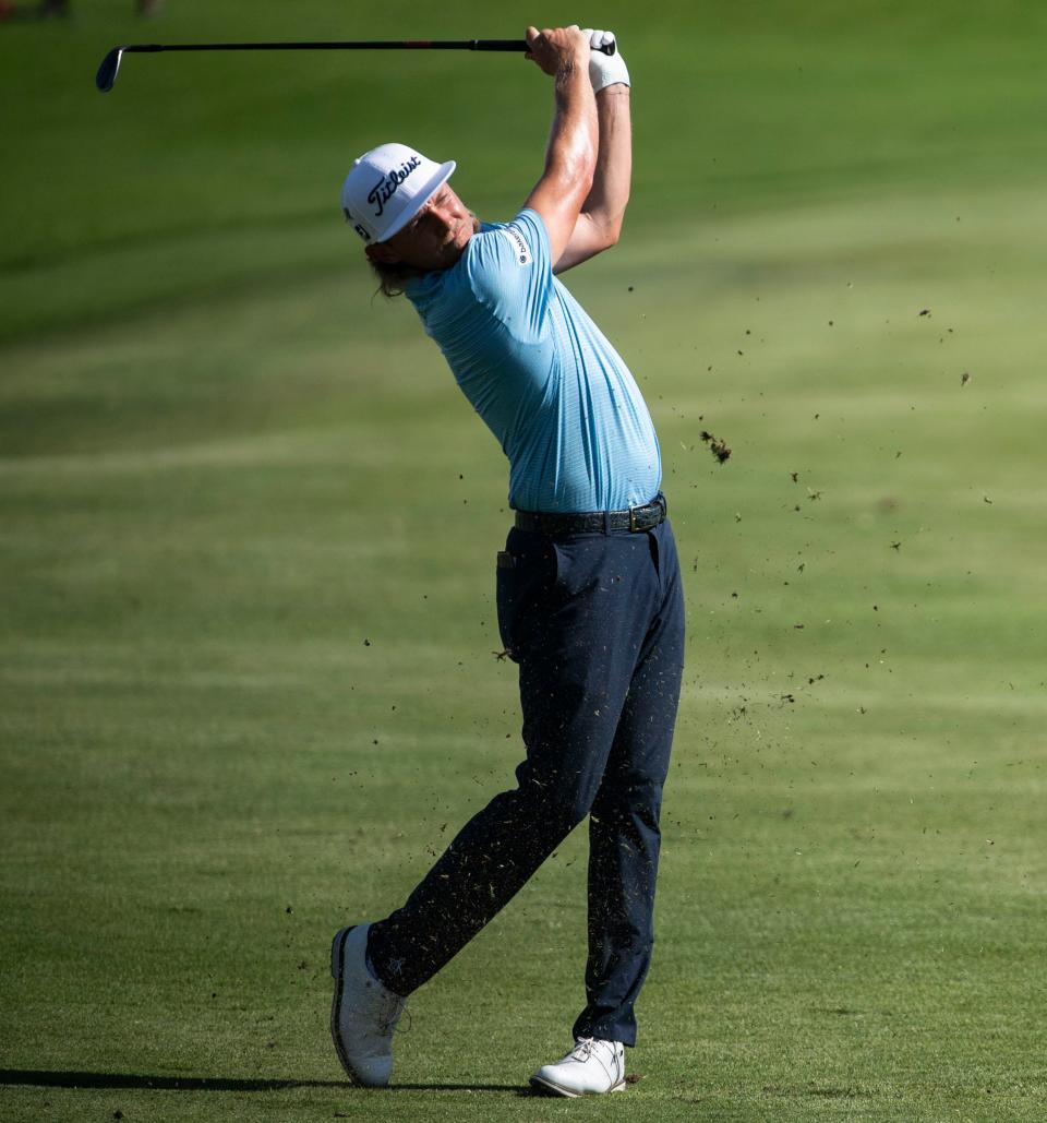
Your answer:
[[[509,506],[616,511],[661,483],[651,414],[628,367],[552,275],[545,223],[484,223],[459,261],[405,289],[509,460]]]

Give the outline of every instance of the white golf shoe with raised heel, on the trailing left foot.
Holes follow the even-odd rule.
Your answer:
[[[384,1088],[393,1071],[393,1030],[406,999],[383,986],[367,969],[369,928],[343,928],[331,944],[331,1037],[352,1084]]]

